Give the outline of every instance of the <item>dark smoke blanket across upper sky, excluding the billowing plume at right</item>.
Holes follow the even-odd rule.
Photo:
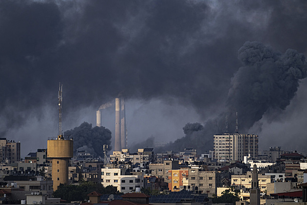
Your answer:
[[[12,138],[6,133],[31,124],[30,115],[38,121],[51,115],[41,108],[57,108],[58,82],[64,88],[63,122],[74,122],[70,116],[80,116],[80,108],[99,107],[121,93],[139,101],[175,99],[208,124],[225,109],[239,109],[225,105],[233,101],[226,102],[244,42],[260,41],[282,53],[307,52],[306,10],[305,0],[0,1],[0,133]],[[292,82],[296,74],[285,78],[290,79],[281,81]],[[88,115],[95,118],[94,112]],[[204,130],[224,127],[211,123]],[[252,122],[246,123],[240,126]]]

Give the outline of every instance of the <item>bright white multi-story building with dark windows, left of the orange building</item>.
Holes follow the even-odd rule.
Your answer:
[[[101,184],[105,187],[113,185],[118,191],[128,193],[143,187],[144,176],[126,175],[125,168],[102,168]]]

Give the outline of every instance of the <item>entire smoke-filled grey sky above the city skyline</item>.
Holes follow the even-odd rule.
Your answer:
[[[20,141],[23,156],[46,147],[62,82],[64,131],[95,125],[96,109],[121,95],[130,144],[169,143],[187,123],[214,131],[238,111],[260,149],[300,150],[306,11],[305,0],[0,1],[1,137]],[[114,137],[113,107],[102,115]]]

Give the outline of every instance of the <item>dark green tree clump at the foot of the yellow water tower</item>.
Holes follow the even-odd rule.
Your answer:
[[[117,187],[109,185],[104,187],[102,184],[94,184],[93,182],[84,182],[79,185],[60,184],[54,192],[54,196],[68,202],[88,200],[88,194],[96,191],[100,194],[119,194]]]

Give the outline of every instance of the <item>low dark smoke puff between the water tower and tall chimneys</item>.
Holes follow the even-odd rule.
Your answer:
[[[82,123],[74,129],[67,130],[64,135],[70,135],[74,139],[74,155],[78,150],[85,150],[94,157],[103,156],[103,145],[108,145],[108,151],[111,146],[111,131],[103,126],[92,127],[90,123]]]

